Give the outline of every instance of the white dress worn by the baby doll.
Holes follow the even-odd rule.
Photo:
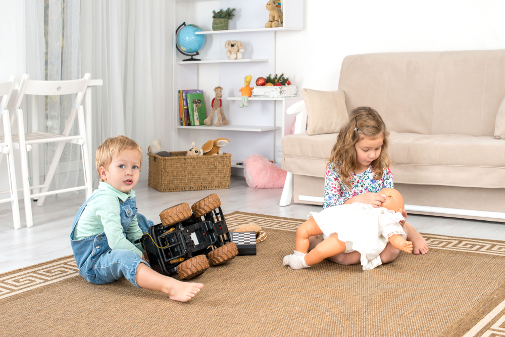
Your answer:
[[[311,215],[321,228],[324,238],[338,233],[338,239],[345,242],[345,253],[361,253],[363,270],[382,264],[379,254],[391,235],[400,234],[407,238],[399,224],[403,220],[401,213],[383,207],[352,203],[328,207],[321,212],[311,212]]]

